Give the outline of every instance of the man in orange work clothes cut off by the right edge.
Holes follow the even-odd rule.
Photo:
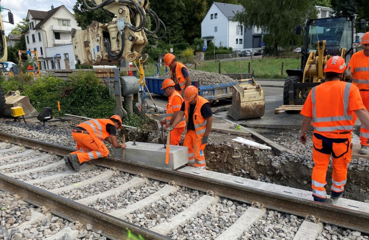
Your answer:
[[[353,83],[359,88],[364,106],[369,110],[369,32],[365,33],[360,42],[363,50],[354,53],[350,59],[348,70],[345,72],[347,79],[353,79]],[[360,128],[359,153],[369,154],[369,125]]]

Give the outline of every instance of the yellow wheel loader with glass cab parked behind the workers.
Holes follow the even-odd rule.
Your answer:
[[[305,30],[305,45],[297,47],[301,52],[301,67],[286,70],[288,77],[284,84],[283,105],[275,109],[275,114],[283,111],[301,111],[310,90],[323,83],[323,68],[332,56],[342,56],[349,63],[359,44],[354,42],[356,15],[310,19]],[[360,20],[360,28],[365,28],[365,19]],[[302,26],[296,26],[296,34],[301,34]],[[357,31],[356,31],[357,32]]]

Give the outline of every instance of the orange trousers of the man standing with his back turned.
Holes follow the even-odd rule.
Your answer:
[[[330,156],[333,159],[331,196],[339,197],[344,192],[347,181],[347,168],[351,161],[351,133],[317,133],[313,135],[312,188],[314,201],[324,202],[327,198],[324,186]]]

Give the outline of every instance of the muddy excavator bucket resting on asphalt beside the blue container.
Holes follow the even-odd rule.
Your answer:
[[[231,118],[244,120],[264,116],[264,91],[254,78],[236,80],[232,97],[232,106],[227,113]]]

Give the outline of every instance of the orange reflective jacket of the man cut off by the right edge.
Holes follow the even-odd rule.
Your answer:
[[[369,57],[364,51],[356,52],[350,59],[353,83],[361,90],[369,90]]]

